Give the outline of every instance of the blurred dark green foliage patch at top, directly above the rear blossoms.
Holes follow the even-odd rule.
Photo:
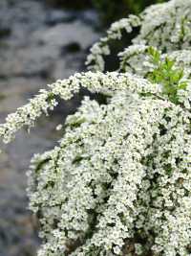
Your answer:
[[[127,16],[129,13],[143,11],[145,7],[165,2],[165,0],[92,0],[93,5],[100,12],[103,24],[108,26],[113,21]]]

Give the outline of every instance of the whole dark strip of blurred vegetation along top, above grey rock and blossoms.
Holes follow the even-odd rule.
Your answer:
[[[102,25],[109,26],[113,21],[126,17],[129,13],[138,14],[152,4],[166,2],[165,0],[46,0],[57,8],[82,10],[96,8]]]

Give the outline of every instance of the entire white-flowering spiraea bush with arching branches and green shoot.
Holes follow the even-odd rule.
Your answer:
[[[172,0],[113,24],[88,58],[95,71],[55,81],[1,125],[8,143],[81,87],[106,98],[85,97],[57,146],[32,158],[38,256],[191,255],[190,11]],[[118,70],[102,73],[110,40],[135,26]]]

